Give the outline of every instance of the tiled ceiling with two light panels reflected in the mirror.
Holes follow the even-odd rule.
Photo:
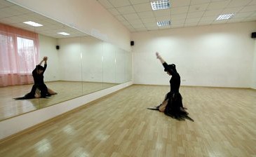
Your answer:
[[[43,25],[43,27],[33,27],[23,23],[30,20]],[[77,29],[68,27],[60,22],[46,18],[43,15],[39,15],[38,13],[34,13],[33,11],[29,11],[26,8],[22,8],[21,6],[17,6],[5,0],[0,0],[0,23],[51,36],[56,39],[88,36],[88,34]],[[67,32],[70,35],[62,36],[58,34],[58,32]]]

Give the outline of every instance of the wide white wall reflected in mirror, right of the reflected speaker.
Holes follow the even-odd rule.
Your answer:
[[[58,45],[60,80],[105,83],[130,81],[128,72],[131,74],[131,61],[128,57],[131,56],[126,50],[91,36],[58,39]]]

